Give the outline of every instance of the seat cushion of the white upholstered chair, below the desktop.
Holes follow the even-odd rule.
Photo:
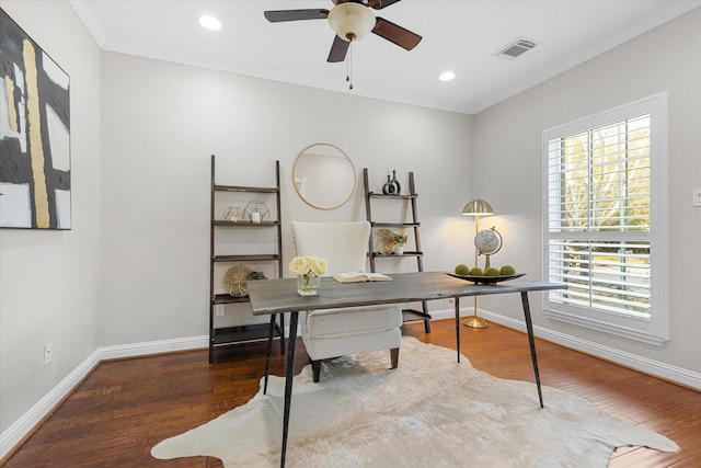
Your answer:
[[[307,312],[307,338],[352,336],[402,326],[399,306],[367,306],[345,309],[324,309]]]

